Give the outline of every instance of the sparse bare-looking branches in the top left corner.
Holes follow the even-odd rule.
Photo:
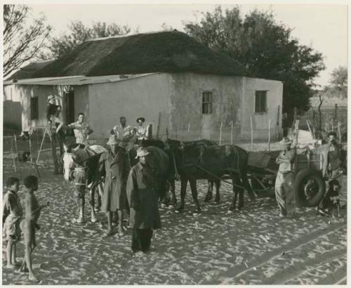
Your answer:
[[[4,5],[4,77],[34,58],[51,32],[44,15],[29,24],[29,12],[26,5]]]

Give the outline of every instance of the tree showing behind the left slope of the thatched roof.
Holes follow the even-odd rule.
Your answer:
[[[69,32],[51,39],[50,45],[46,47],[49,52],[42,53],[41,58],[60,58],[60,56],[69,53],[88,39],[117,36],[131,32],[131,28],[126,25],[119,26],[115,23],[107,24],[106,22],[94,22],[91,27],[87,27],[81,21],[72,21],[68,28]]]

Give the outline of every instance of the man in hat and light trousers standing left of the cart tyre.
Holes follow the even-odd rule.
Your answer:
[[[292,218],[295,212],[296,200],[293,191],[293,162],[296,159],[296,147],[291,148],[291,140],[283,138],[279,142],[283,146],[282,152],[275,160],[279,164],[275,180],[275,197],[280,209],[279,217]]]

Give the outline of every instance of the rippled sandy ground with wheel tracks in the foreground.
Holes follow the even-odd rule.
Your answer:
[[[258,150],[260,150],[258,148]],[[261,149],[262,150],[262,149]],[[133,255],[131,231],[104,237],[107,221],[71,223],[77,216],[72,186],[53,176],[43,158],[37,197],[51,202],[41,214],[34,270],[40,284],[335,284],[346,282],[347,223],[343,218],[317,216],[298,209],[295,219],[280,219],[275,199],[246,199],[234,214],[227,209],[232,188],[223,183],[220,204],[203,202],[206,181],[199,181],[202,213],[192,216],[188,187],[183,214],[161,208],[163,227],[154,233],[150,253]],[[35,174],[22,164],[21,176]],[[13,175],[4,159],[4,178]],[[18,174],[19,175],[19,174]],[[179,183],[176,186],[179,195]],[[25,195],[20,192],[23,201]],[[179,196],[178,196],[179,197]],[[89,219],[86,207],[86,220]],[[6,268],[3,240],[3,284],[34,284],[26,274]],[[18,262],[24,247],[18,244]]]

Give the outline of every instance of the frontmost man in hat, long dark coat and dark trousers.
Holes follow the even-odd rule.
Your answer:
[[[129,226],[133,228],[131,249],[133,252],[150,250],[153,229],[161,228],[155,175],[148,162],[150,152],[137,150],[138,164],[132,167],[127,181],[127,197],[130,207]]]

